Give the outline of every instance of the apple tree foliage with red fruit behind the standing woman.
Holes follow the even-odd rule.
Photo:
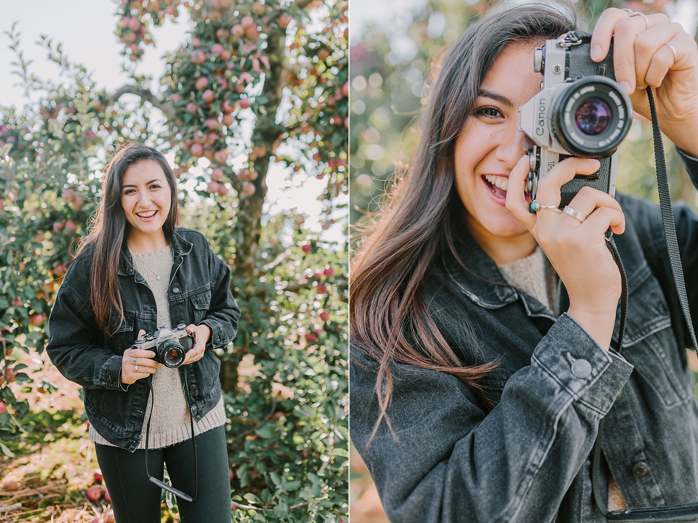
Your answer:
[[[152,42],[151,25],[184,9],[191,17],[190,38],[165,57],[158,94],[135,74],[133,84],[99,91],[48,38],[47,54],[67,80],[36,78],[19,34],[10,33],[17,74],[40,101],[0,108],[6,354],[43,351],[47,315],[114,150],[140,140],[170,154],[181,178],[181,225],[204,233],[228,262],[242,309],[235,343],[218,350],[240,522],[339,522],[348,511],[346,246],[311,232],[304,216],[263,212],[265,174],[276,161],[298,180],[327,179],[322,228],[341,214],[336,197],[348,189],[346,8],[332,0],[121,2],[117,35],[132,61]],[[122,102],[127,93],[141,103]],[[151,118],[159,112],[166,124],[154,135]],[[3,360],[4,440],[31,429],[21,426],[28,405],[4,382],[29,381],[19,367]]]

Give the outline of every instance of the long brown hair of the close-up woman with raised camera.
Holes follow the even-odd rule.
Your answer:
[[[485,406],[493,407],[479,381],[496,363],[478,361],[475,346],[469,348],[470,362],[456,356],[429,315],[422,281],[445,249],[460,259],[456,242],[464,208],[454,186],[454,145],[487,71],[507,45],[542,43],[575,27],[574,8],[567,4],[500,5],[468,28],[440,66],[410,168],[396,175],[380,218],[366,228],[352,259],[350,339],[380,362],[376,378],[380,416],[373,434],[384,418],[392,430],[385,415],[392,392],[392,362],[452,374]]]

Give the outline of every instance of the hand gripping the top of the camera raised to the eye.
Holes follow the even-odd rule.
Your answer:
[[[646,20],[646,22],[645,22]],[[614,36],[616,81],[630,95],[632,107],[650,118],[647,94],[655,91],[662,131],[685,152],[698,156],[698,47],[681,24],[661,13],[630,17],[628,11],[604,10],[591,37],[591,59],[606,57]],[[676,50],[676,59],[671,47]]]

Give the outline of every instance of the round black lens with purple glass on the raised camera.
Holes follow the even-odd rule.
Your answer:
[[[632,124],[632,103],[610,78],[585,76],[570,84],[553,106],[551,132],[574,156],[606,158]]]

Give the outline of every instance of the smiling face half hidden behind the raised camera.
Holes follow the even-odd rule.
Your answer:
[[[482,82],[456,140],[456,189],[468,210],[468,226],[481,235],[513,237],[526,227],[504,206],[509,173],[533,142],[519,131],[519,107],[540,91],[533,72],[536,43],[514,43],[496,59]],[[484,230],[483,230],[484,229]]]

